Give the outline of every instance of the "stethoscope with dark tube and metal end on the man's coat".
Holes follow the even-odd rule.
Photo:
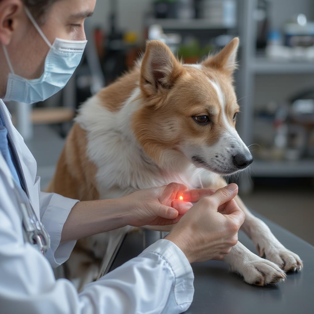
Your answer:
[[[19,160],[19,156],[15,149],[14,143],[8,134],[8,142],[11,149],[12,158],[16,168],[16,172],[19,176],[21,187],[14,181],[14,193],[19,202],[21,209],[22,225],[24,240],[30,242],[30,244],[38,247],[38,250],[45,254],[50,248],[50,236],[46,231],[44,225],[38,220],[33,205],[30,202],[29,192],[27,189],[23,169]]]

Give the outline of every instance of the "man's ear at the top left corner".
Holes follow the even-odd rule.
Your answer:
[[[0,44],[7,46],[10,43],[12,33],[16,28],[17,16],[22,10],[21,0],[0,1]]]

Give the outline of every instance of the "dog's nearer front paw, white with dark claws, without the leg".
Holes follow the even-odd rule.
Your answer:
[[[286,275],[276,264],[256,256],[256,259],[247,261],[241,267],[242,269],[234,269],[239,273],[244,281],[248,284],[257,286],[266,286],[268,284],[276,284],[284,281]]]

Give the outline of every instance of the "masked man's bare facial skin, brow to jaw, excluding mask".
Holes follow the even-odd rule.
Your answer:
[[[58,0],[46,13],[42,32],[52,44],[56,38],[85,40],[84,20],[91,16],[96,0]],[[8,45],[14,72],[24,78],[39,78],[43,73],[49,46],[30,22],[25,12]]]

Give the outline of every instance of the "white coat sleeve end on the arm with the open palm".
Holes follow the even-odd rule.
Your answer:
[[[73,206],[78,202],[72,198],[65,198],[56,193],[40,192],[40,219],[50,236],[50,249],[46,257],[52,267],[58,267],[69,257],[76,241],[69,241],[60,245],[63,225]]]

